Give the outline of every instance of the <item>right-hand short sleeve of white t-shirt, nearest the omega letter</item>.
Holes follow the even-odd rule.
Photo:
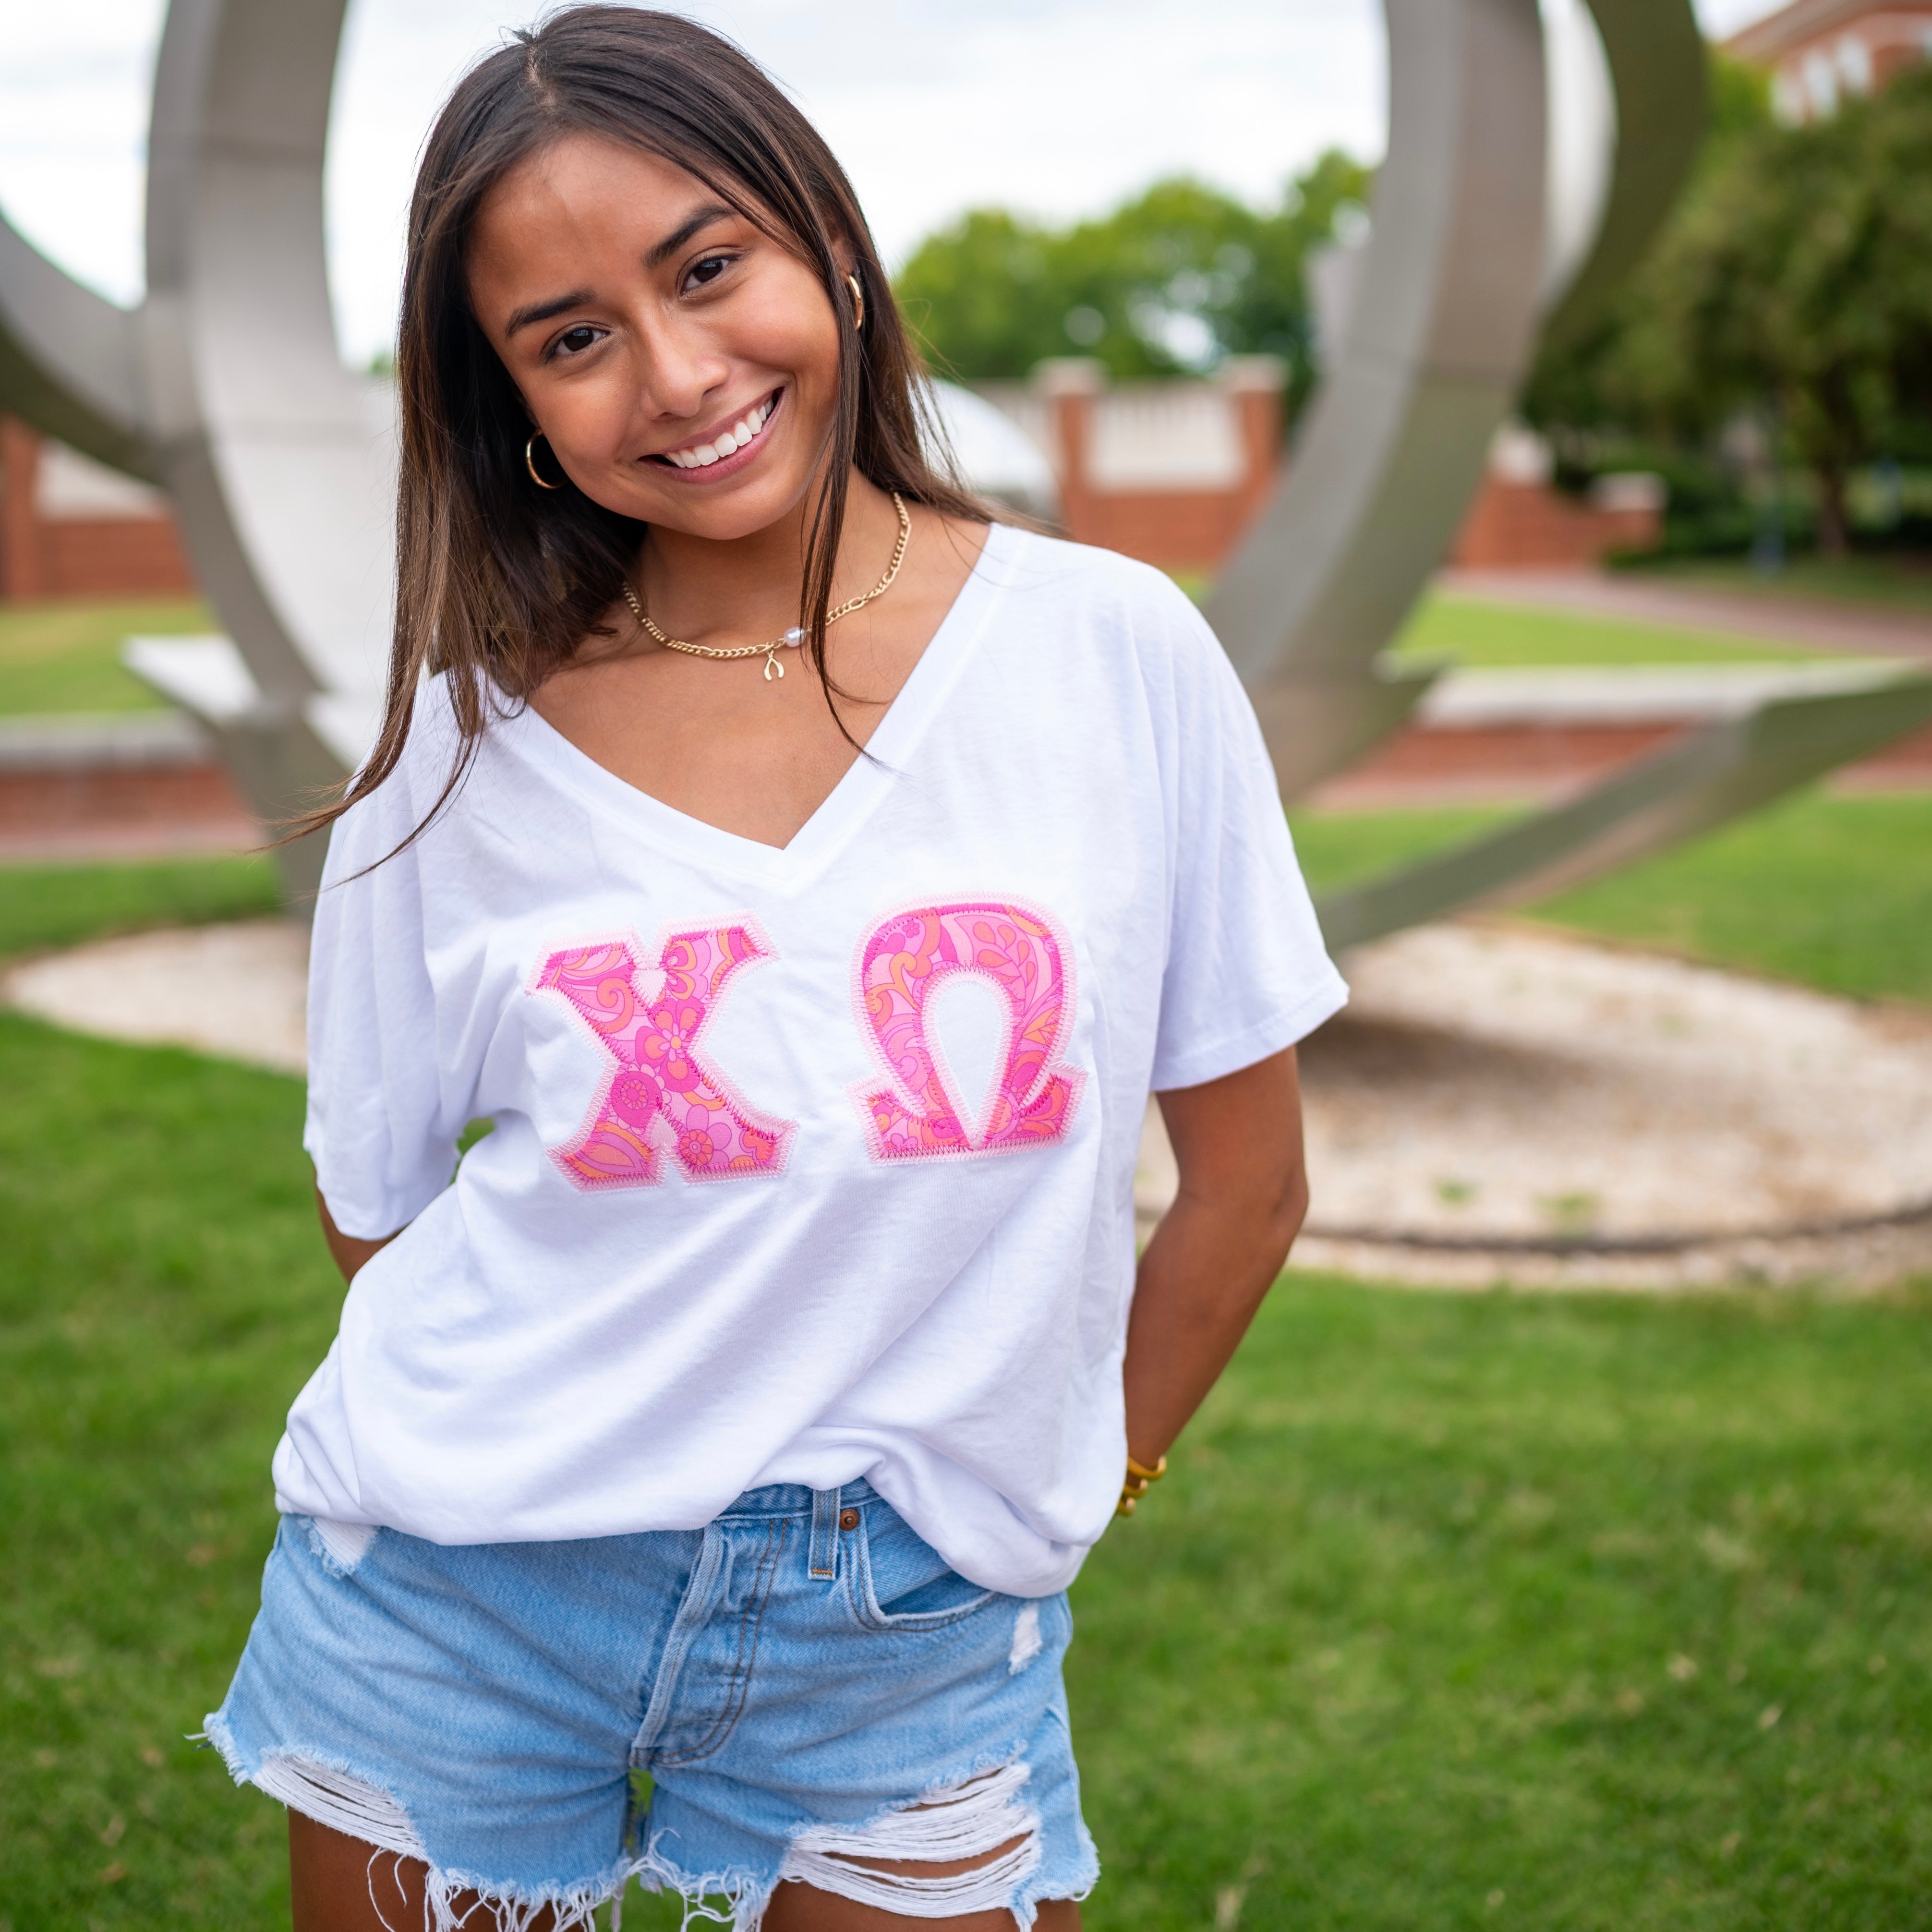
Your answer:
[[[1171,900],[1153,1090],[1202,1086],[1314,1032],[1349,987],[1321,945],[1254,705],[1180,620],[1165,744]]]

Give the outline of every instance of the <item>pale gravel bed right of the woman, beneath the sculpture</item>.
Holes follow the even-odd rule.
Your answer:
[[[1486,922],[1343,968],[1349,1009],[1302,1047],[1298,1262],[1445,1287],[1932,1271],[1932,1014]],[[1151,1117],[1144,1219],[1171,1198]]]

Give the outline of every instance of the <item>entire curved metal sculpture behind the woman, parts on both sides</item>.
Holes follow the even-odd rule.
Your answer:
[[[1642,249],[1702,128],[1689,0],[1588,6],[1617,156],[1598,234],[1557,296],[1559,330]],[[388,400],[342,369],[325,280],[344,10],[172,0],[139,311],[81,290],[0,218],[0,406],[166,487],[234,643],[156,645],[133,663],[216,732],[269,823],[367,746],[392,599]],[[1536,0],[1385,10],[1391,147],[1352,327],[1294,466],[1209,605],[1291,798],[1428,688],[1434,672],[1387,674],[1376,659],[1449,547],[1542,325]],[[1331,935],[1372,937],[1656,850],[1911,728],[1932,684],[1808,703],[1719,726],[1563,811],[1329,898]],[[292,898],[321,869],[315,844],[284,850]]]

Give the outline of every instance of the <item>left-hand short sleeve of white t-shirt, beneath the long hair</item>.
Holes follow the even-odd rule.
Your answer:
[[[400,769],[336,821],[309,945],[301,1138],[330,1217],[361,1240],[394,1235],[448,1186],[468,1121],[439,1068],[421,846],[388,856],[413,825]]]

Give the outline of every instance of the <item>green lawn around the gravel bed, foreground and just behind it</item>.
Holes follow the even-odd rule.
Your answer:
[[[1298,835],[1341,877],[1482,817]],[[1553,910],[1932,997],[1928,835],[1801,798]],[[269,904],[0,871],[0,956]],[[286,1924],[278,1810],[184,1733],[340,1308],[299,1082],[0,1014],[0,1932]],[[1088,1924],[1932,1924],[1928,1318],[1291,1273],[1074,1592]]]

